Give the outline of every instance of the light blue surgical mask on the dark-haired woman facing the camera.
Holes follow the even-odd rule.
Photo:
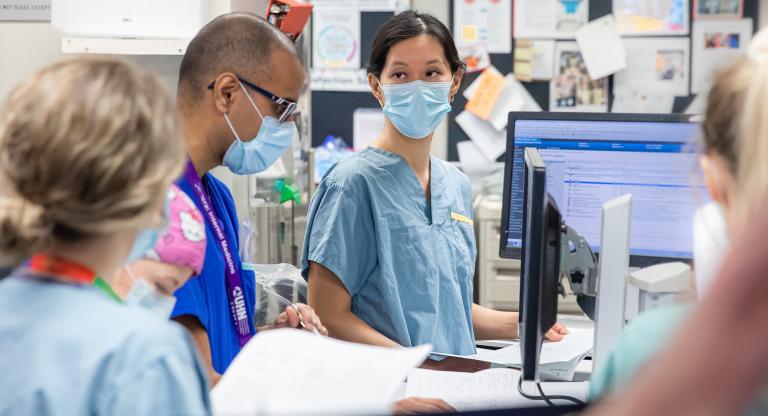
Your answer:
[[[452,84],[453,81],[379,84],[384,92],[384,115],[403,135],[423,139],[432,134],[451,111]]]

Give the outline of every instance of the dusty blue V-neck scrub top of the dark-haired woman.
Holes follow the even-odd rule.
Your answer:
[[[474,354],[477,248],[467,177],[432,157],[431,204],[408,163],[368,147],[334,166],[309,208],[302,274],[322,264],[352,312],[404,346]]]

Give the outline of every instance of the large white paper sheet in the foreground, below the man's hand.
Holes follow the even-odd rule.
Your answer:
[[[294,329],[260,332],[211,391],[214,414],[386,414],[430,349],[371,347]]]

